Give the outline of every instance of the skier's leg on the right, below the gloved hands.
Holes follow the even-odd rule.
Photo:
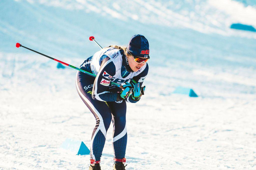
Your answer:
[[[126,101],[122,103],[108,102],[113,114],[113,149],[115,163],[122,162],[127,144]]]

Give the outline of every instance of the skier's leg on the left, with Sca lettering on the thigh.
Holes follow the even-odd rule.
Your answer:
[[[91,159],[100,161],[112,115],[105,102],[92,99],[93,82],[94,78],[91,76],[77,72],[76,87],[78,94],[96,119],[96,126],[91,138]]]

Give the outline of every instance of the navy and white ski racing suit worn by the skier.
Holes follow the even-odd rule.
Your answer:
[[[76,76],[77,91],[96,119],[91,137],[91,160],[100,161],[111,121],[114,159],[123,159],[127,144],[126,102],[135,103],[137,100],[130,96],[125,99],[126,102],[117,102],[117,95],[120,95],[122,89],[112,85],[110,81],[122,84],[133,79],[141,86],[148,73],[148,65],[133,72],[123,50],[107,47],[85,60],[80,69],[97,75],[94,78],[78,71]],[[121,161],[115,161],[118,162]]]

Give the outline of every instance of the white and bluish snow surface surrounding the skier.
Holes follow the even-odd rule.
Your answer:
[[[245,1],[243,1],[245,2]],[[127,104],[126,169],[256,169],[256,7],[231,0],[0,1],[0,169],[88,169],[95,120],[57,69],[16,42],[79,67],[102,46],[150,42],[140,102]],[[249,5],[248,5],[249,4]],[[172,94],[189,87],[199,95]],[[113,165],[112,127],[102,169]]]

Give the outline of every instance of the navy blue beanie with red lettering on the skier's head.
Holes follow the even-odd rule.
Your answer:
[[[148,57],[148,41],[143,35],[133,35],[127,46],[127,50],[136,57]]]

